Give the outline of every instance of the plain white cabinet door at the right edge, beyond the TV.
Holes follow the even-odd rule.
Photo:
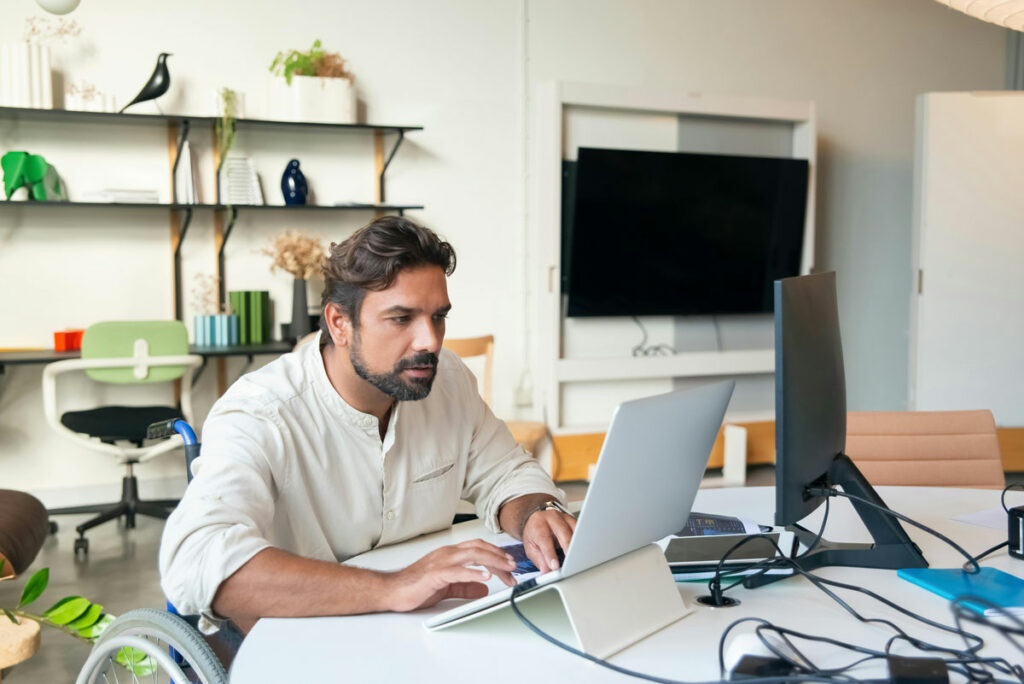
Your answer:
[[[910,408],[1024,426],[1024,93],[918,101]]]

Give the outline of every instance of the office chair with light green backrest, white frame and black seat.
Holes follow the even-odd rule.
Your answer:
[[[126,468],[121,500],[115,504],[71,506],[49,511],[50,515],[98,513],[76,527],[75,553],[89,553],[85,532],[108,520],[124,516],[135,526],[135,515],[166,518],[176,500],[142,501],[134,466],[181,445],[172,437],[146,445],[146,428],[161,420],[191,420],[191,377],[203,357],[188,353],[188,335],[178,320],[110,322],[91,326],[82,337],[82,357],[50,364],[43,371],[43,411],[46,423],[80,446],[108,454]],[[86,411],[57,410],[57,378],[84,371],[100,383],[180,383],[180,409],[172,405],[104,405]]]

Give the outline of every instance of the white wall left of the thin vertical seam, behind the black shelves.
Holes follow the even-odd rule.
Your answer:
[[[388,199],[422,202],[427,209],[410,216],[456,246],[460,258],[450,284],[456,306],[449,334],[497,336],[496,404],[510,415],[523,368],[521,4],[402,0],[286,7],[259,0],[242,7],[199,0],[86,0],[70,15],[82,26],[81,37],[56,56],[63,57],[69,80],[86,79],[124,102],[148,77],[157,52],[172,52],[173,89],[165,112],[208,114],[210,93],[228,85],[246,93],[249,114],[258,116],[278,50],[305,48],[321,38],[341,52],[356,75],[366,121],[424,126],[407,137],[394,159]],[[42,13],[31,0],[4,3],[0,41],[18,39],[25,17]],[[43,154],[63,173],[73,197],[116,176],[122,185],[167,191],[166,132],[160,128],[0,119],[0,149],[10,148]],[[256,160],[269,201],[281,202],[281,172],[293,156],[302,160],[322,201],[373,199],[370,136],[260,129],[240,134],[237,149]],[[207,190],[209,169],[207,160],[201,167]],[[371,218],[242,215],[227,247],[228,288],[271,290],[278,316],[287,320],[289,276],[271,274],[258,248],[286,225],[340,242]],[[49,346],[52,331],[97,319],[170,315],[168,226],[160,210],[0,210],[0,346]],[[184,243],[186,305],[194,275],[212,272],[214,256],[210,216],[199,214]],[[239,362],[231,371],[239,371]],[[200,383],[197,408],[204,415],[213,400],[214,376],[208,370]],[[119,468],[47,431],[40,368],[8,367],[4,381],[0,486],[35,490],[50,503],[56,501],[53,488],[109,483],[110,498],[116,498]],[[183,480],[179,461],[165,457],[161,464],[140,467],[138,475]],[[144,483],[141,494],[155,496]]]

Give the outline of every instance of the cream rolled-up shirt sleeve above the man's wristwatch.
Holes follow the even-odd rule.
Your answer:
[[[465,373],[471,383],[466,414],[473,419],[474,427],[463,499],[475,504],[477,516],[495,532],[502,531],[498,520],[502,506],[513,499],[547,494],[564,504],[565,494],[555,486],[541,464],[516,443],[508,426],[483,402],[469,369]]]

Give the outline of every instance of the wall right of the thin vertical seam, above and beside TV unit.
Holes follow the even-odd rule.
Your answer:
[[[914,96],[1001,88],[1006,32],[933,0],[562,0],[528,26],[531,83],[814,100],[849,405],[905,408]]]

